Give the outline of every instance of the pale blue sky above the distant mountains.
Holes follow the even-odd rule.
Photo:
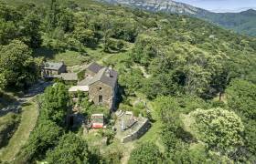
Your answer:
[[[212,12],[240,12],[250,8],[256,9],[256,0],[175,0],[189,5],[207,9]]]

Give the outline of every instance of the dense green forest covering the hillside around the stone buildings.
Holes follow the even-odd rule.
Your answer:
[[[131,104],[138,94],[154,108],[147,117],[152,129],[160,125],[156,138],[140,140],[128,163],[256,162],[255,37],[186,15],[87,0],[0,1],[2,92],[35,83],[45,52],[67,51],[84,62],[103,58],[118,71],[120,108],[144,114]],[[85,115],[95,109],[82,101]],[[122,162],[125,150],[91,146],[63,122],[67,86],[48,87],[37,103],[37,125],[12,162]],[[112,139],[111,130],[102,135]]]

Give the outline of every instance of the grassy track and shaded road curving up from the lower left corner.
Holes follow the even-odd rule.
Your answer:
[[[27,90],[24,97],[17,98],[14,106],[21,108],[21,120],[15,134],[10,138],[8,145],[0,149],[0,159],[3,161],[12,161],[16,153],[25,145],[30,132],[35,128],[38,117],[37,103],[33,100],[38,94],[43,93],[50,82],[38,82]],[[7,111],[13,112],[13,111]]]

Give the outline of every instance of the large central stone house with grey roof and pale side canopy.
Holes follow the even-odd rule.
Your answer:
[[[112,67],[102,67],[91,63],[85,69],[84,79],[69,92],[86,91],[95,105],[103,105],[113,109],[116,105],[118,90],[118,74]]]

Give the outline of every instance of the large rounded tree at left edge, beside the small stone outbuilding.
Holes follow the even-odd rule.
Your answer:
[[[14,40],[0,49],[0,72],[7,87],[27,87],[37,80],[38,66],[28,46]]]

